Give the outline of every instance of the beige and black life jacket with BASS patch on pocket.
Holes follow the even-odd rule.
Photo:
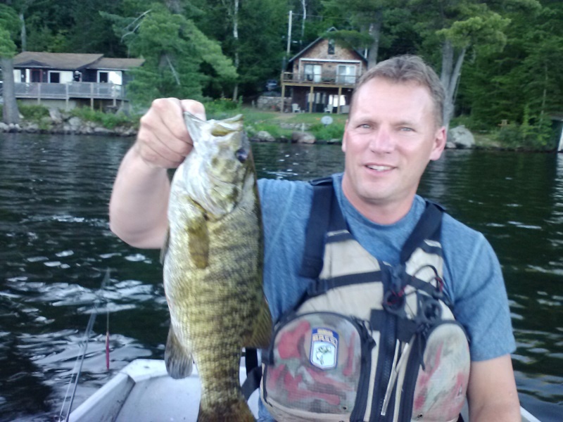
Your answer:
[[[313,281],[262,353],[263,404],[280,422],[457,421],[469,343],[443,293],[443,209],[426,203],[391,266],[350,234],[331,179],[312,183]]]

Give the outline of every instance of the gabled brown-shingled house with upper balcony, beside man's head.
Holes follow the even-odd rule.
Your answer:
[[[367,59],[334,39],[319,37],[289,60],[288,70],[281,75],[281,98],[289,91],[292,111],[348,113]]]

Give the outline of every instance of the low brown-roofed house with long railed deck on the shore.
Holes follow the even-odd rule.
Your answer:
[[[115,107],[117,101],[127,101],[127,70],[143,63],[103,54],[24,51],[13,59],[15,97],[67,110],[81,104]]]

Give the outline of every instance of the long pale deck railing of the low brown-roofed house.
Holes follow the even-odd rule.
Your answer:
[[[69,82],[68,84],[48,84],[44,82],[15,83],[16,98],[62,99],[91,98],[122,100],[125,90],[121,85],[111,82]]]

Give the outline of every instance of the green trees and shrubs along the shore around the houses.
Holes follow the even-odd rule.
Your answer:
[[[548,117],[563,113],[563,2],[559,0],[307,0],[304,23],[301,0],[243,0],[238,15],[234,15],[234,0],[9,4],[0,4],[0,56],[9,57],[21,48],[21,14],[27,51],[143,57],[145,65],[129,74],[133,79],[127,93],[134,107],[148,106],[162,96],[194,98],[207,101],[209,117],[242,111],[257,128],[277,126],[268,118],[275,113],[246,110],[233,101],[213,98],[228,97],[237,86],[238,95],[249,102],[267,79],[279,77],[282,63],[329,27],[339,30],[331,33],[336,38],[363,51],[373,38],[370,25],[381,23],[379,60],[416,53],[440,72],[446,39],[455,46],[450,64],[455,65],[455,57],[466,49],[455,91],[459,117],[452,127],[464,124],[472,131],[498,133],[505,146],[538,148],[550,142]],[[289,10],[294,12],[294,42],[285,57]],[[238,38],[233,33],[235,21]],[[320,139],[339,138],[341,134],[323,133],[337,123],[343,125],[346,118],[332,117],[334,124],[327,128],[317,113],[284,115],[284,121],[313,124]],[[103,124],[103,117],[90,118]],[[501,129],[502,120],[510,125]],[[113,124],[117,123],[105,125]]]

